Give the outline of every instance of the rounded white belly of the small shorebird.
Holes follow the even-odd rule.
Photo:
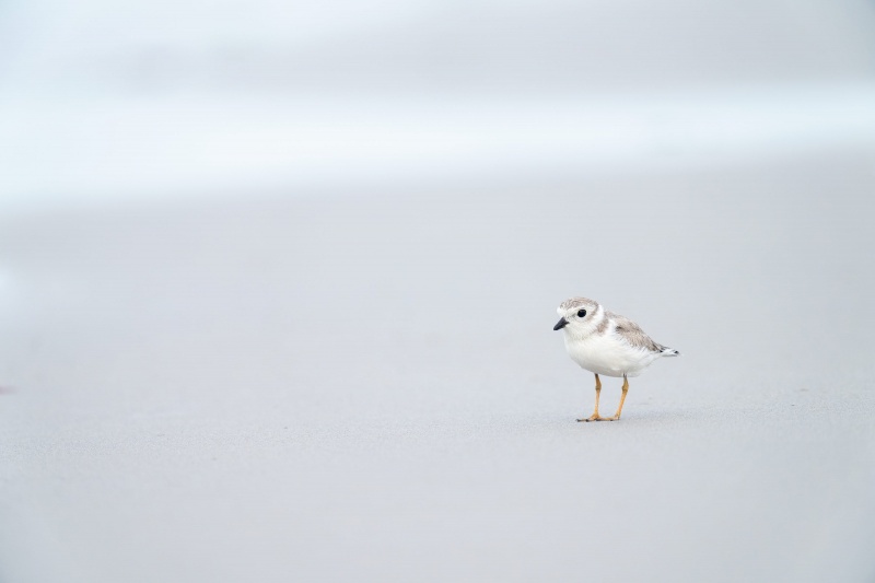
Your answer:
[[[565,335],[565,350],[583,369],[605,376],[638,376],[660,354],[630,347],[612,335],[572,338]]]

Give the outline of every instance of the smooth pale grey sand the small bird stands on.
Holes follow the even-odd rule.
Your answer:
[[[0,580],[872,581],[874,167],[10,219]]]

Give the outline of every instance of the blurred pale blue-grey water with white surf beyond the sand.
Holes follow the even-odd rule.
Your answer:
[[[2,212],[629,174],[875,139],[867,0],[10,0],[0,11]]]

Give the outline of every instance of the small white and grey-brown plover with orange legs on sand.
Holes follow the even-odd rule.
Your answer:
[[[586,298],[565,300],[556,311],[561,316],[553,330],[564,330],[565,350],[571,360],[595,374],[595,412],[578,421],[617,421],[629,390],[629,376],[662,357],[677,357],[677,350],[653,341],[641,326]],[[622,376],[622,396],[614,417],[598,415],[602,381],[598,375]]]

